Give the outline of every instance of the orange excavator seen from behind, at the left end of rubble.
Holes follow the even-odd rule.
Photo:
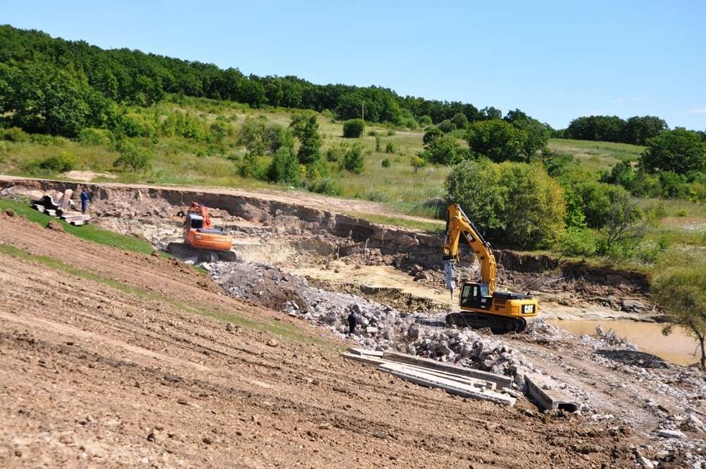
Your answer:
[[[198,257],[202,262],[235,261],[232,247],[232,237],[213,227],[208,208],[191,202],[184,220],[184,242],[169,243],[167,252],[181,259]]]

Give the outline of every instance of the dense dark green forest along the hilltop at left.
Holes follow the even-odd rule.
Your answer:
[[[0,105],[11,124],[28,131],[75,136],[81,126],[109,124],[111,105],[148,106],[167,94],[231,100],[250,107],[328,109],[338,119],[416,128],[462,113],[469,121],[491,119],[493,107],[402,97],[389,88],[317,85],[296,76],[246,76],[238,69],[138,50],[104,50],[84,41],[52,38],[37,30],[0,26]],[[49,109],[61,105],[64,109]],[[66,113],[68,123],[61,124]]]

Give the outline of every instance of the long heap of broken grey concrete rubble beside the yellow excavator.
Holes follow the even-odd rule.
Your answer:
[[[231,295],[301,317],[340,338],[347,337],[347,316],[355,311],[359,327],[350,338],[369,350],[397,350],[511,376],[519,390],[525,388],[525,374],[541,373],[518,350],[490,333],[438,327],[444,325],[443,314],[410,314],[347,293],[311,287],[306,278],[263,263],[202,266]],[[542,328],[561,334],[561,329],[542,324]],[[539,333],[534,327],[531,333]]]

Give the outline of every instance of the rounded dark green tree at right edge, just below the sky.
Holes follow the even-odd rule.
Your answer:
[[[698,133],[682,127],[664,131],[647,139],[640,166],[648,172],[706,172],[706,143]]]

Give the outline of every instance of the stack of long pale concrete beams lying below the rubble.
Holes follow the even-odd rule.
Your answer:
[[[376,352],[360,348],[349,349],[342,354],[348,360],[378,367],[384,373],[428,388],[441,388],[447,393],[477,400],[489,400],[500,405],[515,405],[517,399],[495,391],[496,383],[503,382],[505,376],[482,373],[484,378],[469,376],[469,370],[451,364],[425,360],[398,352]]]

